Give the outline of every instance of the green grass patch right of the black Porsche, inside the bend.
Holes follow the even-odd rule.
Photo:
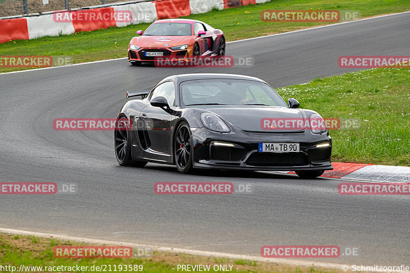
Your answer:
[[[410,166],[410,69],[380,68],[277,88],[323,118],[356,118],[355,130],[330,130],[334,162]]]

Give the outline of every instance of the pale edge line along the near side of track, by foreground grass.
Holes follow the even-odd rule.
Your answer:
[[[315,267],[334,268],[334,269],[339,269],[339,270],[343,266],[343,264],[337,264],[337,263],[300,261],[300,260],[280,259],[280,258],[263,258],[263,257],[251,256],[251,255],[229,254],[229,253],[211,252],[211,251],[197,251],[197,250],[186,249],[186,248],[165,247],[165,246],[136,244],[136,243],[127,243],[127,242],[116,242],[116,241],[84,238],[84,237],[72,237],[72,236],[67,236],[67,235],[57,235],[57,234],[30,232],[30,231],[22,231],[22,230],[12,230],[12,229],[4,229],[2,227],[0,227],[0,232],[7,233],[7,234],[18,234],[18,235],[26,235],[26,236],[37,236],[37,237],[42,237],[42,238],[60,239],[60,240],[66,240],[66,241],[84,242],[84,243],[89,243],[89,244],[124,245],[124,246],[131,246],[135,248],[150,247],[159,252],[185,253],[185,254],[196,255],[196,256],[229,258],[229,259],[235,259],[235,260],[250,260],[250,261],[258,261],[258,262],[279,263],[279,264],[293,265],[293,266],[311,267],[312,265],[314,265]]]

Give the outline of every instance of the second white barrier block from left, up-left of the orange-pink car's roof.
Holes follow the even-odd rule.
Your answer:
[[[153,22],[157,19],[157,11],[153,2],[136,3],[124,6],[114,6],[115,11],[130,11],[132,13],[131,22],[117,22],[117,27],[136,25],[142,22]]]

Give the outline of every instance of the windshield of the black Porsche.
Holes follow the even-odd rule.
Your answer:
[[[182,105],[270,105],[286,103],[268,84],[252,80],[192,80],[180,84]]]

